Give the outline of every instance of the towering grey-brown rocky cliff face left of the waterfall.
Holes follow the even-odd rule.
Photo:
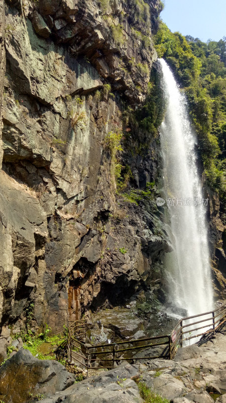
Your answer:
[[[155,181],[159,141],[130,111],[156,59],[160,3],[8,0],[0,12],[0,320],[17,332],[32,309],[34,329],[59,332],[85,309],[160,288],[161,214],[116,197],[105,140],[126,133],[120,164],[138,188]]]

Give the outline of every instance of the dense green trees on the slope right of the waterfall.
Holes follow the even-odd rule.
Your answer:
[[[226,219],[226,39],[201,42],[160,24],[155,47],[183,87],[198,137],[204,178],[221,198]]]

